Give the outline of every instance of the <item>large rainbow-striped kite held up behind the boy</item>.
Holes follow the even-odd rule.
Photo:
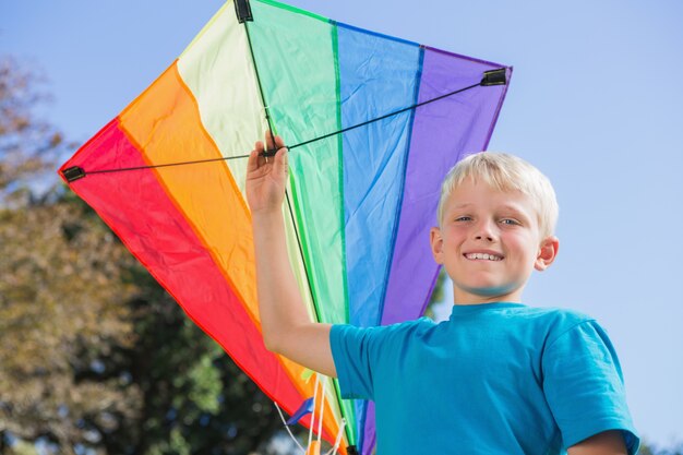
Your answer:
[[[439,273],[428,232],[441,181],[486,149],[511,74],[272,0],[228,1],[60,175],[293,415],[317,380],[263,344],[245,154],[267,130],[290,148],[283,211],[312,320],[415,319]],[[342,399],[336,381],[320,381],[319,421],[302,412],[301,422],[340,438],[342,453],[370,454],[372,403]]]

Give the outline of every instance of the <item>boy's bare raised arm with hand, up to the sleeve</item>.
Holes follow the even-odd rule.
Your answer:
[[[289,264],[281,205],[287,185],[287,148],[275,136],[275,157],[249,156],[247,200],[252,215],[259,311],[265,346],[311,370],[336,376],[329,348],[329,324],[311,322]],[[273,148],[272,139],[267,140]]]

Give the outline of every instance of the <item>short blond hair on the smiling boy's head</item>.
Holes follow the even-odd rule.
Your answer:
[[[541,237],[553,235],[560,207],[548,177],[522,158],[492,152],[469,155],[448,171],[441,185],[438,211],[440,225],[447,199],[467,178],[481,180],[499,191],[519,191],[528,195],[536,205]]]

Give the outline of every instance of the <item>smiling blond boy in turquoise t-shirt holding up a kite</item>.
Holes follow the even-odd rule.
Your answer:
[[[287,151],[249,158],[266,347],[375,402],[378,454],[634,454],[619,360],[590,318],[522,304],[553,262],[558,205],[519,158],[477,154],[446,177],[434,259],[453,280],[448,321],[357,328],[309,321],[289,266],[281,203]],[[273,144],[268,144],[273,148]]]

